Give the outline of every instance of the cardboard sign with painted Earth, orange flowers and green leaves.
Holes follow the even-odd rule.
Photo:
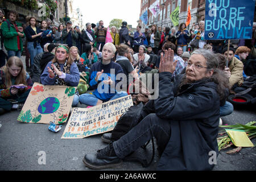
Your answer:
[[[18,121],[56,124],[66,122],[76,88],[73,86],[42,85],[35,82],[20,111]]]

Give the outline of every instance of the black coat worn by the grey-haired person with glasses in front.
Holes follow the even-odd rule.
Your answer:
[[[159,97],[155,113],[171,122],[171,137],[159,160],[159,170],[209,170],[218,155],[220,97],[210,78],[178,86],[183,75],[159,74]],[[212,152],[210,152],[212,151]],[[209,153],[210,152],[210,153]],[[217,159],[216,159],[217,160]],[[211,160],[210,160],[211,161]]]

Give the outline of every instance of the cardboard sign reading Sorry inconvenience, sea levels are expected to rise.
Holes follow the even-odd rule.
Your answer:
[[[73,108],[61,139],[85,138],[112,131],[119,117],[133,106],[131,95],[90,108]]]

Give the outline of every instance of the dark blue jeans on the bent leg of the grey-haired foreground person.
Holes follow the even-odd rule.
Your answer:
[[[115,154],[118,158],[123,159],[143,146],[152,137],[155,137],[158,151],[162,154],[171,137],[170,121],[159,118],[156,114],[148,114],[127,134],[113,142]]]

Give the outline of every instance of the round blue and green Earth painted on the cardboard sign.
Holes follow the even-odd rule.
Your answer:
[[[58,110],[60,107],[60,101],[56,97],[48,97],[43,100],[38,106],[40,114],[51,114]]]

